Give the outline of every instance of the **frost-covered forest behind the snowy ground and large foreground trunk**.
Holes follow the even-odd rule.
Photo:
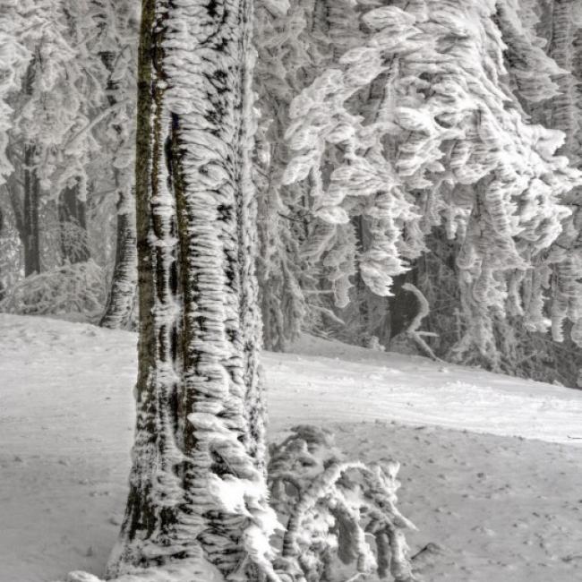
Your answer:
[[[96,321],[103,311],[103,325],[126,327],[135,284],[129,168],[135,66],[130,40],[137,18],[129,4],[110,0],[6,5],[8,16],[0,17],[10,22],[0,44],[7,72],[0,123],[10,137],[3,165],[10,167],[8,158],[13,159],[16,171],[4,172],[6,184],[0,186],[6,194],[4,231],[8,237],[20,233],[26,273],[42,269],[47,277],[41,284],[30,278],[25,285],[18,255],[4,261],[10,300],[2,309],[35,312],[37,303],[42,312],[50,312],[53,296],[61,314]],[[380,12],[366,16],[371,8]],[[387,20],[376,21],[384,10]],[[570,0],[491,0],[482,6],[472,0],[258,4],[253,88],[261,116],[252,178],[258,192],[257,275],[266,347],[287,349],[304,330],[415,351],[407,328],[418,303],[404,287],[413,283],[431,306],[424,321],[435,334],[428,341],[436,355],[576,383],[581,357],[575,342],[582,270],[579,188],[568,184],[569,170],[556,167],[554,172],[551,166],[562,163],[560,156],[567,156],[571,167],[579,166],[579,12],[578,3]],[[57,16],[53,27],[50,22]],[[389,30],[395,45],[390,45]],[[467,41],[463,30],[475,38]],[[46,62],[36,65],[39,82],[27,97],[22,83],[40,44],[46,47]],[[459,47],[471,57],[463,58]],[[356,51],[352,57],[350,50]],[[435,54],[440,65],[432,62]],[[373,59],[356,71],[361,73],[357,80],[357,66],[348,60],[367,56]],[[321,83],[326,74],[330,76]],[[344,77],[343,90],[336,86],[338,74]],[[54,90],[42,90],[45,85]],[[442,98],[445,85],[458,95],[465,91],[463,98],[450,100],[464,116],[450,113],[450,103]],[[310,109],[309,100],[298,98],[328,89],[327,95],[315,96],[321,109]],[[306,125],[295,127],[294,98],[299,99],[297,115],[312,116],[309,131]],[[39,155],[23,147],[27,119],[33,116],[42,122],[30,129],[29,141],[36,143]],[[331,125],[317,128],[329,123],[333,132]],[[50,124],[56,131],[41,130]],[[549,164],[543,150],[558,134],[528,134],[535,124],[566,133],[563,144],[555,143],[558,158]],[[305,153],[302,143],[312,139],[320,140],[319,175],[310,172],[306,179],[290,180],[285,170],[294,163],[294,148]],[[495,167],[496,150],[517,156],[512,179],[511,172]],[[34,163],[24,164],[26,151]],[[538,174],[525,161],[527,151],[541,154]],[[486,162],[472,166],[475,175],[461,175],[455,167],[465,154],[469,161]],[[367,175],[365,187],[341,177],[358,167]],[[497,210],[492,208],[491,184],[479,184],[483,192],[476,192],[479,181],[474,178],[486,167],[490,171],[482,179],[499,186],[498,218],[504,215],[505,224],[492,218]],[[383,186],[365,193],[372,178]],[[520,190],[519,181],[526,180],[535,185]],[[550,191],[543,193],[546,186]],[[343,200],[328,204],[330,193]],[[535,202],[527,202],[529,197]],[[534,251],[532,236],[539,232],[527,230],[523,211],[540,219],[543,208],[562,216],[553,223],[561,232],[552,244],[547,239],[543,250]],[[37,222],[40,228],[34,227]],[[497,244],[502,249],[502,261],[485,275],[485,258],[475,241],[490,236],[491,248]],[[512,247],[516,252],[509,252]],[[468,268],[466,252],[471,249],[476,254]],[[89,256],[90,267],[78,262]],[[503,261],[512,267],[501,268]],[[111,286],[107,304],[95,308],[103,302],[105,287],[98,281],[107,278],[100,269],[111,273]],[[82,283],[88,272],[90,285]],[[84,304],[73,300],[80,285],[91,289],[83,292],[93,306],[90,313],[75,312]],[[490,304],[477,308],[472,299],[477,287],[488,289]],[[550,320],[552,338],[546,334]]]

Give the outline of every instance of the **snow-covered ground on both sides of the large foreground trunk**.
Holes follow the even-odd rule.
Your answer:
[[[0,582],[100,574],[123,515],[134,334],[0,315]],[[263,357],[270,436],[402,462],[427,580],[582,580],[582,391],[303,338]],[[487,434],[488,433],[488,434]]]

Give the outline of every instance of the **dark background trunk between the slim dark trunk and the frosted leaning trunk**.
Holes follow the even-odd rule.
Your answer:
[[[79,199],[79,183],[64,188],[58,201],[63,262],[89,261],[86,204]]]

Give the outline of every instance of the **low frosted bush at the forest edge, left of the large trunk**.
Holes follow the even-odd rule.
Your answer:
[[[22,315],[75,313],[93,321],[103,310],[105,295],[103,271],[90,260],[21,279],[0,303],[0,311]]]

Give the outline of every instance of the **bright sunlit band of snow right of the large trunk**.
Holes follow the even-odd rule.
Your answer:
[[[277,426],[378,419],[569,444],[582,437],[582,390],[318,338],[302,338],[295,352],[263,357]]]

